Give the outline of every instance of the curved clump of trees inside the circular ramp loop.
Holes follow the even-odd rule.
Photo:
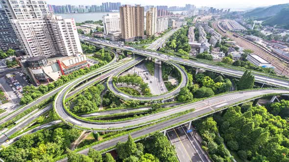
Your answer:
[[[113,77],[114,83],[120,83],[120,84],[126,84],[126,85],[133,85],[133,86],[138,86],[143,95],[151,95],[150,90],[148,88],[147,83],[143,81],[141,77],[139,77],[137,74],[133,75],[125,75],[125,76],[120,76],[120,77]]]

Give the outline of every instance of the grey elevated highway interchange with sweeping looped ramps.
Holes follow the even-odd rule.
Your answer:
[[[80,36],[80,39],[84,42],[88,42],[91,44],[101,44],[104,46],[109,46],[113,48],[118,48],[121,50],[126,50],[126,51],[131,51],[135,54],[139,54],[145,57],[152,57],[161,61],[166,61],[171,64],[174,64],[178,66],[176,63],[180,64],[186,64],[190,65],[193,67],[198,67],[198,68],[203,68],[207,69],[210,71],[215,71],[219,72],[222,74],[226,75],[232,75],[236,77],[241,77],[243,74],[243,71],[238,71],[238,70],[232,70],[224,67],[219,67],[215,65],[210,65],[210,64],[205,64],[205,63],[200,63],[192,60],[186,60],[182,58],[177,58],[177,57],[172,57],[172,56],[167,56],[164,54],[160,54],[157,52],[151,52],[151,51],[146,51],[146,50],[140,50],[140,49],[135,49],[132,47],[127,47],[127,46],[122,46],[118,44],[113,44],[112,42],[105,42],[105,41],[99,41],[96,39],[91,39],[87,38],[84,36]],[[160,41],[161,43],[164,43],[165,39],[163,41]],[[66,94],[76,85],[81,84],[84,80],[87,80],[88,78],[91,78],[93,80],[86,82],[79,87],[76,88],[76,91],[73,91],[71,94],[69,94],[67,97],[71,97],[72,95],[78,93],[83,89],[83,87],[93,85],[95,81],[100,81],[100,80],[105,80],[107,78],[112,78],[112,76],[116,76],[119,74],[121,71],[125,70],[126,68],[134,65],[135,63],[138,63],[142,61],[144,58],[143,57],[136,57],[136,61],[133,60],[124,60],[124,61],[119,61],[116,62],[116,59],[118,57],[116,56],[114,61],[110,62],[107,64],[105,67],[102,67],[101,69],[96,70],[93,73],[84,75],[83,77],[80,77],[74,81],[71,81],[61,87],[56,88],[55,90],[49,92],[48,94],[44,95],[43,97],[37,99],[36,101],[33,101],[32,103],[24,106],[24,108],[21,108],[20,110],[12,113],[11,115],[5,117],[0,121],[0,124],[11,120],[12,118],[16,117],[18,114],[21,112],[24,112],[24,110],[39,104],[41,101],[48,99],[50,96],[57,94],[57,97],[55,98],[54,102],[54,109],[57,112],[57,114],[62,118],[62,121],[66,123],[71,123],[73,126],[77,128],[82,128],[82,129],[87,129],[91,130],[92,128],[95,130],[102,130],[102,131],[112,131],[112,130],[125,130],[125,129],[131,129],[134,127],[140,127],[143,125],[147,125],[150,123],[155,123],[155,125],[146,127],[142,130],[136,131],[131,133],[133,138],[136,137],[141,137],[144,135],[147,135],[148,133],[152,133],[155,131],[162,130],[166,127],[169,127],[173,124],[176,123],[182,123],[185,122],[189,119],[196,119],[200,116],[205,116],[208,115],[209,113],[214,113],[218,111],[219,109],[229,106],[229,105],[234,105],[235,103],[240,103],[244,102],[247,100],[252,100],[254,98],[259,98],[261,95],[266,95],[266,94],[289,94],[288,89],[263,89],[263,90],[250,90],[250,91],[243,91],[243,92],[234,92],[234,93],[229,93],[229,94],[224,94],[221,96],[216,96],[213,98],[209,98],[204,101],[198,101],[194,103],[189,103],[186,105],[179,106],[177,108],[173,108],[161,113],[156,113],[153,115],[145,116],[142,118],[138,118],[135,120],[131,121],[122,121],[122,122],[109,122],[109,123],[97,123],[97,122],[88,122],[88,121],[83,121],[81,119],[72,117],[64,108],[63,101],[66,99]],[[181,68],[182,69],[182,68]],[[180,71],[182,72],[182,70]],[[184,71],[183,71],[184,72]],[[185,72],[184,72],[185,73]],[[186,74],[182,74],[183,76],[183,82],[180,84],[180,86],[173,90],[172,92],[169,92],[167,94],[161,95],[161,96],[155,96],[155,97],[133,97],[133,96],[128,96],[126,94],[122,94],[119,92],[115,87],[113,86],[112,82],[108,80],[108,85],[112,89],[113,92],[115,92],[118,96],[121,96],[121,98],[126,99],[126,100],[143,100],[143,101],[152,101],[152,100],[163,100],[163,99],[168,99],[169,97],[173,97],[177,95],[179,92],[179,89],[182,86],[186,85],[187,77]],[[257,82],[264,82],[266,80],[266,76],[262,75],[256,75],[255,74],[255,80]],[[289,88],[289,81],[283,81],[283,80],[278,80],[274,78],[268,78],[266,80],[266,84],[269,85],[275,85],[278,87],[285,87]],[[84,86],[85,85],[85,86]],[[82,88],[80,88],[82,87]],[[78,90],[77,90],[78,89]],[[114,91],[115,90],[115,91]],[[193,112],[189,112],[185,115],[181,116],[176,116],[176,114],[187,111],[187,110],[194,110]],[[168,118],[171,117],[171,118]],[[158,122],[158,123],[156,123]],[[121,136],[119,138],[110,140],[108,142],[103,142],[98,145],[93,146],[93,148],[97,150],[102,150],[105,148],[109,148],[111,146],[114,146],[117,142],[119,141],[126,141],[127,135]],[[80,151],[80,153],[87,154],[88,149]],[[67,159],[64,159],[62,161],[66,161]]]

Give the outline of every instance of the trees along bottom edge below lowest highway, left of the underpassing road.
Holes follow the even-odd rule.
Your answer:
[[[118,142],[117,153],[119,162],[178,162],[174,147],[161,133],[155,133],[138,143],[135,143],[129,135],[127,142]],[[68,162],[115,162],[115,160],[109,153],[101,157],[98,151],[90,149],[88,156],[70,151]]]

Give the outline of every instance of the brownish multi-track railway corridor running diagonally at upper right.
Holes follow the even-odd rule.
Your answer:
[[[229,32],[229,31],[225,31],[224,29],[222,29],[219,26],[219,22],[213,22],[213,27],[222,35],[222,36],[227,36],[229,38],[231,38],[233,41],[236,41],[238,44],[240,44],[243,48],[245,49],[250,49],[252,51],[254,51],[254,54],[261,56],[262,58],[266,59],[267,61],[269,61],[274,67],[276,67],[275,71],[279,74],[282,73],[282,75],[285,75],[287,77],[289,77],[289,71],[287,69],[289,69],[289,65],[278,59],[277,57],[273,56],[272,54],[264,51],[264,49],[262,49],[261,47],[258,47],[256,44],[244,40],[241,37],[234,37],[233,33]]]

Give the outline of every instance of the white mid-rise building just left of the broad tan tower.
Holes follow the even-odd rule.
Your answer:
[[[110,32],[120,31],[120,14],[107,14],[102,17],[102,22],[104,26],[104,33],[108,34]]]

